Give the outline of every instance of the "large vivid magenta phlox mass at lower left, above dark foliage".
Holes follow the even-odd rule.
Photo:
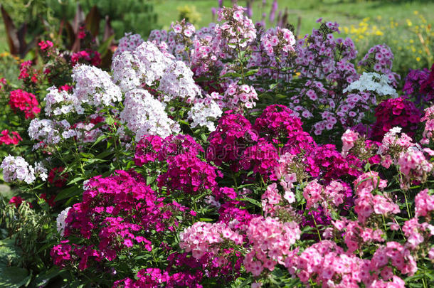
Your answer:
[[[51,250],[55,265],[65,267],[75,262],[85,270],[92,263],[113,261],[126,250],[151,251],[152,230],[173,231],[179,222],[172,215],[186,211],[163,200],[132,171],[91,178],[85,185],[83,202],[68,210],[62,226],[64,238],[84,241],[63,240],[55,245]]]

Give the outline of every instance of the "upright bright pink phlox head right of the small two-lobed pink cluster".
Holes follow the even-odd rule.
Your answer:
[[[376,171],[369,171],[361,174],[356,181],[356,200],[354,211],[356,211],[360,223],[365,223],[372,213],[377,215],[388,215],[399,213],[399,207],[386,195],[373,195],[371,192],[386,187],[386,180],[382,180]]]

